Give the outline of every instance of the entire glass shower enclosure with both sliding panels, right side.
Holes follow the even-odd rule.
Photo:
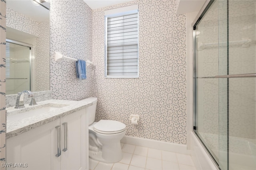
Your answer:
[[[256,169],[256,1],[212,0],[194,25],[194,132],[221,170]]]

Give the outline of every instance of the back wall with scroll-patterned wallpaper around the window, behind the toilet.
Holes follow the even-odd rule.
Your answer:
[[[139,4],[139,78],[104,78],[104,10]],[[92,11],[96,121],[127,126],[126,135],[186,144],[186,17],[175,0],[138,0]],[[140,115],[131,125],[131,114]]]

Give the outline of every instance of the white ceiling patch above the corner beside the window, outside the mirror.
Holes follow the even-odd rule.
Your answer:
[[[122,4],[133,0],[84,0],[84,2],[92,9],[102,8],[115,4]]]

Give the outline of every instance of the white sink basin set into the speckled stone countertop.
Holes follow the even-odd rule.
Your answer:
[[[48,113],[50,111],[55,111],[68,105],[58,105],[54,103],[47,103],[44,105],[35,105],[33,107],[25,107],[22,109],[17,109],[11,112],[7,111],[7,121],[19,121],[21,119],[26,119],[29,117],[34,117]]]

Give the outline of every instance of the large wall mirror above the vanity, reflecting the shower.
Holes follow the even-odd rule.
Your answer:
[[[46,1],[6,0],[6,95],[50,90],[50,3]]]

